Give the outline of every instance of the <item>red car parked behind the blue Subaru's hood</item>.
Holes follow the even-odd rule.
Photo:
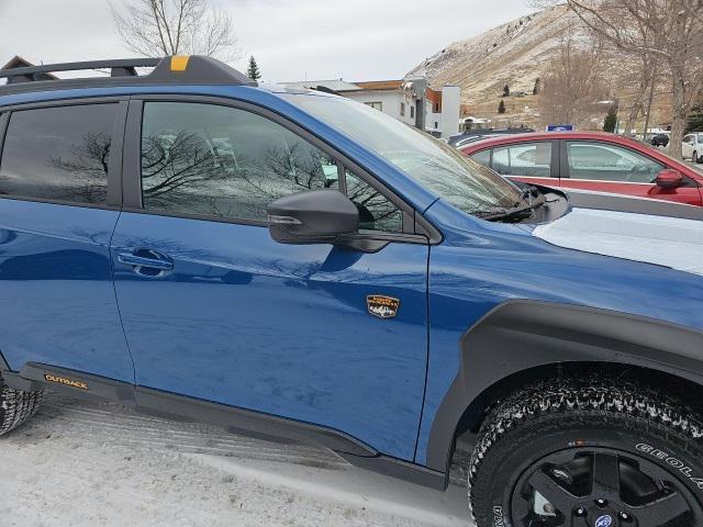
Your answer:
[[[703,206],[703,172],[618,135],[598,132],[506,135],[459,149],[515,181]]]

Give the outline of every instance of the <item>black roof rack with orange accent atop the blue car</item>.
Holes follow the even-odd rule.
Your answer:
[[[154,68],[148,75],[138,75],[136,68]],[[49,79],[47,74],[110,69],[110,77],[80,79]],[[91,60],[85,63],[45,64],[0,69],[0,94],[18,91],[55,90],[114,85],[238,85],[256,86],[246,75],[212,57],[172,56],[164,58],[131,58]]]

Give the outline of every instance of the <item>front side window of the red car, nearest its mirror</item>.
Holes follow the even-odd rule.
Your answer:
[[[628,148],[604,143],[567,143],[571,178],[651,183],[663,165]]]

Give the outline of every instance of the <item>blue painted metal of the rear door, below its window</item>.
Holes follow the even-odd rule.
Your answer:
[[[134,381],[111,280],[119,212],[0,200],[0,347],[35,361]]]

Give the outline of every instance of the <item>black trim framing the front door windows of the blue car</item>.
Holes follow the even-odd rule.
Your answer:
[[[436,245],[443,239],[442,233],[424,216],[417,213],[411,205],[392,192],[387,186],[369,173],[349,157],[330,145],[322,137],[292,122],[288,117],[266,108],[248,101],[213,96],[194,94],[138,94],[130,99],[129,114],[126,117],[125,142],[123,150],[123,178],[122,193],[124,212],[149,214],[166,217],[181,217],[186,220],[199,220],[207,222],[228,223],[234,225],[248,225],[268,227],[266,221],[223,218],[186,213],[167,213],[164,211],[147,211],[142,203],[142,123],[144,103],[146,102],[183,102],[193,104],[213,104],[235,110],[244,110],[268,119],[284,127],[289,132],[309,142],[315,148],[327,154],[337,162],[338,173],[347,169],[364,182],[380,192],[403,213],[403,232],[384,233],[380,231],[360,231],[357,235],[360,239],[380,239],[384,242],[403,242]],[[341,183],[342,189],[342,183]]]

